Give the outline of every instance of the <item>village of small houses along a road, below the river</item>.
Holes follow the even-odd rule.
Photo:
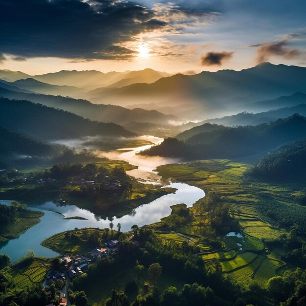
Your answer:
[[[59,306],[69,306],[68,288],[70,280],[82,275],[88,268],[88,265],[95,262],[99,258],[111,256],[116,253],[119,247],[118,240],[109,240],[104,243],[103,247],[96,247],[83,255],[68,256],[64,255],[60,258],[62,272],[57,270],[50,270],[47,274],[43,287],[48,288],[50,284],[58,281],[64,282],[64,287],[58,290],[60,294]],[[47,306],[54,306],[54,304],[48,304]]]

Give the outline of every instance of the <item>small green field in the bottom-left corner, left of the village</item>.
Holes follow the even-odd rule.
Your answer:
[[[27,287],[33,284],[41,284],[47,274],[50,265],[40,258],[35,258],[25,266],[13,265],[8,273],[13,277],[17,287]]]

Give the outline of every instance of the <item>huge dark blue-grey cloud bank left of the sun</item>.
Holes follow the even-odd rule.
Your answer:
[[[0,51],[15,58],[131,59],[124,45],[162,29],[153,11],[119,0],[0,0]]]

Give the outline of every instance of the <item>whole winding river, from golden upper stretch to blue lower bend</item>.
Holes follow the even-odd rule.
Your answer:
[[[153,136],[142,136],[142,140],[149,140],[153,143],[162,141],[162,138]],[[101,152],[101,155],[113,159],[121,159],[138,166],[138,169],[128,172],[129,175],[136,178],[147,180],[151,183],[158,183],[159,176],[153,170],[162,164],[179,162],[178,160],[160,158],[160,157],[143,157],[136,153],[149,148],[152,145],[147,145],[138,148],[125,148],[113,152]],[[184,183],[170,183],[166,187],[177,189],[175,194],[168,194],[158,199],[139,206],[131,211],[130,214],[121,218],[111,219],[114,226],[120,222],[121,230],[128,231],[133,224],[142,226],[159,221],[161,218],[168,216],[171,212],[171,205],[185,203],[188,207],[192,206],[198,199],[205,196],[204,192],[193,186]],[[9,204],[10,201],[1,203]],[[0,252],[10,256],[12,262],[17,261],[20,257],[26,254],[27,250],[33,250],[36,256],[54,257],[58,254],[41,245],[41,242],[59,232],[74,229],[75,227],[109,227],[109,219],[102,219],[100,216],[94,215],[86,209],[78,208],[75,205],[60,205],[55,202],[46,201],[44,203],[31,203],[28,205],[30,209],[35,209],[44,212],[41,222],[31,227],[18,238],[0,243]],[[87,220],[78,219],[63,219],[65,217],[80,216]]]

